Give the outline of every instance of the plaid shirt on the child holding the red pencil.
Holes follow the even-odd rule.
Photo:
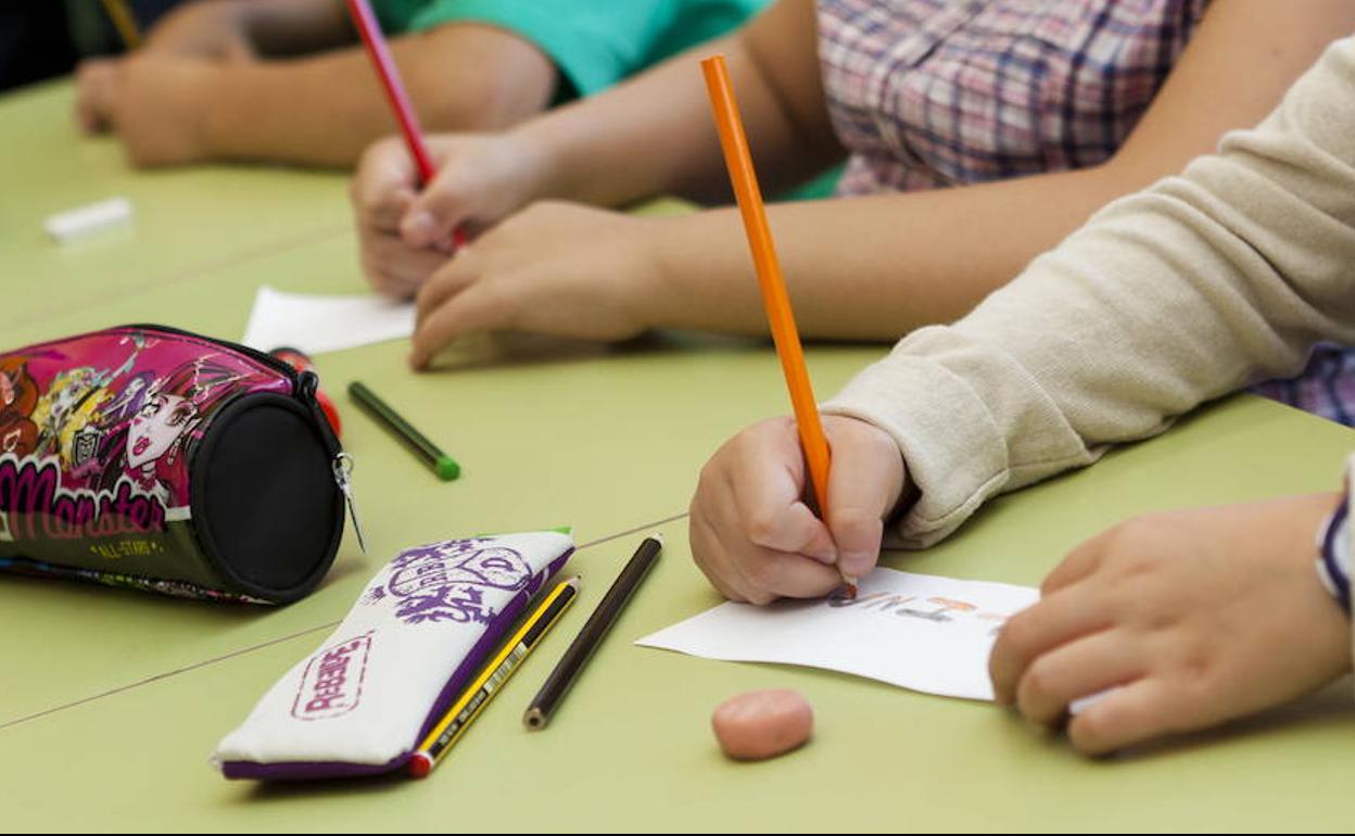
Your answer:
[[[820,0],[839,194],[1095,165],[1115,153],[1207,0]]]

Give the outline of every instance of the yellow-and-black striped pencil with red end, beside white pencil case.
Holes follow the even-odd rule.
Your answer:
[[[466,726],[485,707],[499,688],[508,682],[523,659],[531,653],[541,637],[556,625],[569,604],[579,596],[579,579],[560,581],[537,610],[527,616],[512,638],[505,641],[499,653],[485,665],[461,698],[451,705],[442,722],[432,728],[419,748],[409,757],[409,774],[425,778],[434,766],[442,760],[451,744],[457,743]]]

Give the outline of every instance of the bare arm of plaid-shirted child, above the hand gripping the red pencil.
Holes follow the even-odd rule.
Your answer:
[[[728,38],[523,125],[520,134],[547,160],[537,196],[602,206],[656,194],[728,199],[698,65],[717,53],[729,61],[764,187],[817,173],[841,149],[818,87],[814,38],[813,4],[783,0]]]

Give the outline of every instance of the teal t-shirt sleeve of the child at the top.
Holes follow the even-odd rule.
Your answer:
[[[485,23],[522,35],[588,96],[737,28],[771,0],[375,0],[389,34]]]

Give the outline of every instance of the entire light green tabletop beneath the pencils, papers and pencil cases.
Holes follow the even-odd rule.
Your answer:
[[[159,321],[244,331],[259,283],[363,285],[343,177],[260,168],[134,173],[80,140],[69,88],[0,99],[4,346]],[[50,211],[129,195],[131,229],[58,247]],[[346,537],[320,591],[286,608],[220,607],[0,576],[0,809],[5,831],[58,829],[1346,829],[1355,711],[1348,683],[1244,724],[1104,760],[988,705],[789,667],[714,663],[630,642],[718,603],[691,562],[695,474],[736,430],[787,411],[757,340],[657,335],[622,347],[477,340],[439,371],[388,343],[317,358],[358,461],[370,553]],[[814,346],[821,394],[882,347]],[[343,394],[362,379],[443,443],[443,484]],[[1253,397],[1192,416],[1096,467],[992,503],[917,572],[1038,584],[1126,516],[1333,486],[1341,427]],[[256,786],[221,779],[215,743],[343,618],[398,549],[573,524],[581,600],[425,782]],[[668,547],[547,732],[520,713],[640,532]],[[763,764],[725,760],[713,707],[794,687],[814,741]]]

